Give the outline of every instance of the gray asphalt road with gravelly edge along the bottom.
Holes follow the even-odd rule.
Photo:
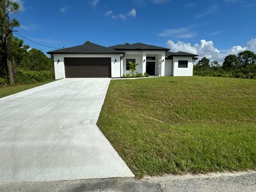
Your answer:
[[[0,183],[0,191],[256,191],[256,172],[218,177],[109,178],[51,182]]]

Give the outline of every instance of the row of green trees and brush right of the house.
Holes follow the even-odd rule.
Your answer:
[[[256,54],[246,50],[238,55],[227,55],[222,66],[217,61],[210,62],[203,58],[194,66],[194,75],[235,77],[235,78],[256,78]]]

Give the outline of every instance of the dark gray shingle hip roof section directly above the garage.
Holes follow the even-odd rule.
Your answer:
[[[94,43],[86,43],[74,47],[55,50],[47,52],[48,54],[62,53],[62,54],[120,54],[122,51],[117,51],[109,47],[97,45]]]

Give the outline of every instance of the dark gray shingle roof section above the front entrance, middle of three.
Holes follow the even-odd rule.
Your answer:
[[[119,45],[110,46],[109,48],[113,48],[115,50],[164,50],[164,51],[170,50],[165,47],[148,45],[148,44],[144,44],[144,43],[134,43],[131,45],[120,45],[119,44]]]

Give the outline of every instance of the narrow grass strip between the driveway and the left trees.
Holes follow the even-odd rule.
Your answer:
[[[39,83],[34,83],[34,84],[27,84],[27,85],[0,85],[0,98],[31,89],[36,86],[44,85],[46,83],[50,83],[53,81],[54,80],[46,81],[46,82],[39,82]]]

